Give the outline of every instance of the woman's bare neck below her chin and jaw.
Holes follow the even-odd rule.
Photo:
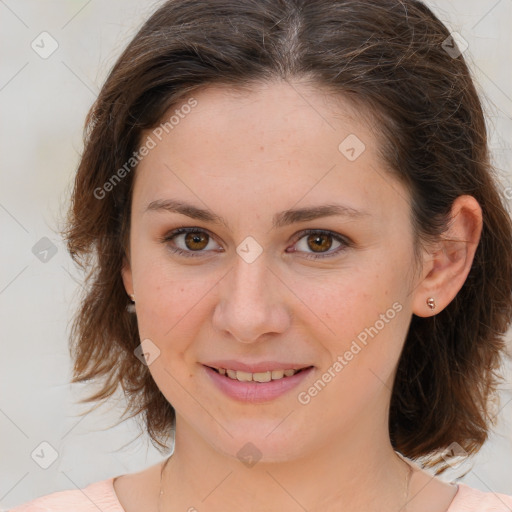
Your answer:
[[[246,465],[206,444],[178,416],[175,450],[162,476],[160,512],[405,512],[410,468],[389,437],[359,428],[336,441],[301,458],[262,458]]]

